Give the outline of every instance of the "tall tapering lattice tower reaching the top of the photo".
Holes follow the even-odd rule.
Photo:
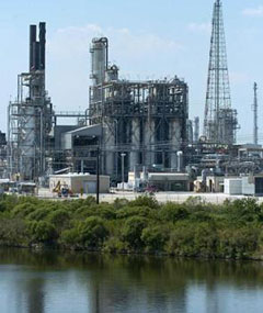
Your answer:
[[[237,110],[231,109],[222,4],[216,0],[213,13],[204,135],[218,144],[233,144],[238,128]]]

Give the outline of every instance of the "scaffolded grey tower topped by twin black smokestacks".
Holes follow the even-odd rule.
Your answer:
[[[31,25],[30,71],[18,77],[18,98],[8,111],[8,163],[10,177],[36,180],[46,170],[53,105],[45,90],[46,26]]]

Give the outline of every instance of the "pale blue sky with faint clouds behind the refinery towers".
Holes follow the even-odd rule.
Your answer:
[[[110,60],[126,79],[174,75],[190,87],[191,118],[203,120],[214,0],[0,0],[0,130],[28,68],[28,25],[47,23],[47,90],[56,110],[88,107],[93,36],[107,36]],[[232,107],[239,139],[252,141],[253,82],[259,83],[263,143],[263,0],[222,1]]]

